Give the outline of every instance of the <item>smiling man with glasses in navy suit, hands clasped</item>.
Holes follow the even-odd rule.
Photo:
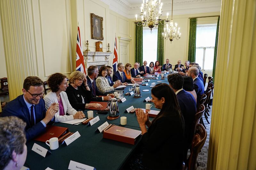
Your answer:
[[[43,81],[34,76],[29,76],[23,83],[23,94],[7,103],[1,116],[17,116],[27,123],[27,141],[35,138],[45,131],[46,124],[55,121],[55,113],[59,110],[59,103],[52,103],[48,110],[45,109]]]

